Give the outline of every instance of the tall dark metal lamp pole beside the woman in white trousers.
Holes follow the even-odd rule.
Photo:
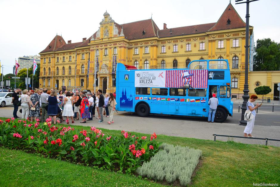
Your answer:
[[[249,65],[249,3],[253,1],[258,1],[258,0],[245,0],[245,2],[239,2],[243,0],[235,0],[237,2],[236,4],[242,4],[246,3],[246,38],[245,38],[245,83],[244,83],[244,95],[242,96],[243,98],[243,103],[242,103],[242,114],[241,114],[241,121],[239,121],[239,125],[247,125],[247,121],[244,120],[244,113],[247,109],[247,102],[249,99],[249,85],[248,85],[248,65]],[[239,2],[239,3],[238,3]]]

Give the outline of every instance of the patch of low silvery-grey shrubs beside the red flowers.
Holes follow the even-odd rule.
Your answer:
[[[202,151],[166,143],[160,149],[149,162],[137,169],[137,173],[155,180],[165,179],[168,183],[178,179],[181,185],[188,185]]]

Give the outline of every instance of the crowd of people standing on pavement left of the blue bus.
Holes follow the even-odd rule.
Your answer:
[[[55,91],[53,89],[37,89],[23,90],[16,89],[12,95],[12,103],[14,105],[13,117],[17,116],[18,106],[21,106],[21,118],[36,121],[46,121],[47,118],[56,121],[57,116],[61,117],[61,121],[69,124],[69,118],[74,121],[79,120],[80,123],[92,121],[95,117],[95,109],[97,110],[98,123],[104,121],[104,117],[108,117],[108,124],[114,123],[113,114],[116,110],[116,100],[112,93],[102,94],[102,90],[95,93],[87,91]],[[63,118],[66,117],[66,120]]]

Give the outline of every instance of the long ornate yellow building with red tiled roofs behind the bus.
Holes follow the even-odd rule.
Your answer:
[[[232,4],[215,23],[159,29],[153,19],[117,24],[105,12],[88,39],[67,43],[56,35],[41,55],[40,86],[61,90],[115,88],[114,62],[137,68],[185,68],[192,60],[228,59],[232,98],[242,98],[245,77],[245,22]],[[253,27],[250,27],[250,35]],[[96,80],[94,72],[96,70]],[[278,74],[277,74],[278,73]],[[273,89],[279,72],[249,71],[250,94],[259,85]],[[273,78],[275,77],[275,78]],[[95,85],[94,85],[95,84]],[[268,96],[273,97],[273,91]]]

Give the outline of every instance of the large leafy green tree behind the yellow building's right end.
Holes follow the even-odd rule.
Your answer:
[[[254,70],[280,70],[280,43],[271,41],[270,38],[257,40],[256,55],[254,56]]]

